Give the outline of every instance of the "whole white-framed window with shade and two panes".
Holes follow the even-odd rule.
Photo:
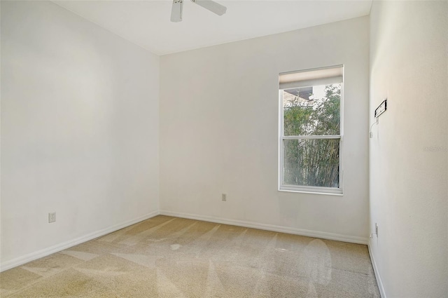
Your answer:
[[[279,82],[279,190],[342,194],[343,67]]]

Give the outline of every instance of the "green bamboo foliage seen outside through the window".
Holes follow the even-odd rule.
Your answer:
[[[307,97],[283,102],[284,135],[340,135],[341,85]],[[283,140],[283,184],[339,187],[339,138]]]

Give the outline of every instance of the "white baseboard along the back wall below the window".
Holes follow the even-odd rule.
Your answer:
[[[217,224],[230,224],[232,226],[244,226],[246,228],[275,231],[275,232],[280,232],[280,233],[291,233],[291,234],[300,235],[300,236],[323,238],[323,239],[343,241],[343,242],[349,242],[349,243],[357,243],[357,244],[365,244],[365,245],[367,245],[367,243],[368,243],[368,239],[363,238],[363,237],[348,236],[348,235],[342,235],[342,234],[337,234],[337,233],[326,233],[326,232],[321,232],[321,231],[311,231],[311,230],[305,230],[305,229],[296,229],[296,228],[290,228],[288,226],[275,226],[272,224],[259,224],[257,222],[244,222],[244,221],[235,220],[235,219],[225,219],[225,218],[213,217],[213,216],[195,215],[195,214],[189,214],[189,213],[183,213],[183,212],[171,212],[171,211],[167,211],[167,210],[160,210],[160,215],[183,217],[183,218],[188,218],[188,219],[197,219],[197,220],[202,220],[205,222],[216,222]]]

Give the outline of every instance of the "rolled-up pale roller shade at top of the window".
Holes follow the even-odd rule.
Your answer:
[[[286,72],[279,76],[279,88],[301,88],[342,83],[343,74],[344,67],[342,65],[310,69],[300,72]]]

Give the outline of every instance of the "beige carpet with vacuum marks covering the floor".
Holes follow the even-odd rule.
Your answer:
[[[379,297],[365,245],[157,216],[0,273],[1,297]]]

